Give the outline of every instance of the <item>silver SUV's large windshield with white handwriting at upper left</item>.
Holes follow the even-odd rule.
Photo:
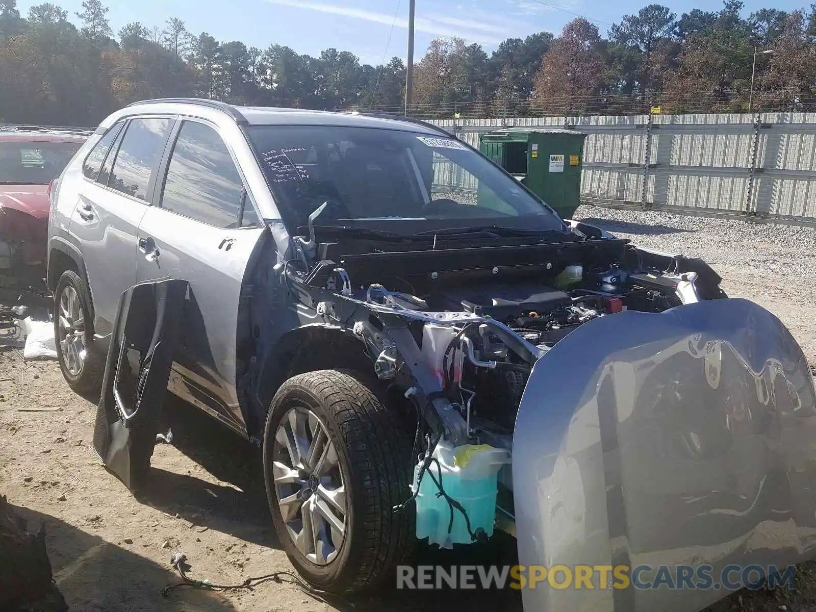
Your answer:
[[[558,216],[459,140],[347,126],[252,126],[277,202],[304,225],[397,233],[494,225],[562,230]]]

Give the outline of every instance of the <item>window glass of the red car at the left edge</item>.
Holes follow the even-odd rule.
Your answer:
[[[46,185],[68,166],[82,143],[0,141],[0,184]]]

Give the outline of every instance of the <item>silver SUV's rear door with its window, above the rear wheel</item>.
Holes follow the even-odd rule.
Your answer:
[[[83,164],[86,183],[71,215],[98,335],[113,325],[119,296],[136,282],[136,233],[153,200],[157,168],[175,120],[133,118],[114,126]]]

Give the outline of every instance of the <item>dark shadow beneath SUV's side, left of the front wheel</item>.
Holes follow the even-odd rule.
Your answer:
[[[170,394],[166,401],[162,430],[172,430],[173,446],[228,485],[162,469],[154,454],[150,485],[136,499],[196,525],[280,548],[269,517],[259,449]]]

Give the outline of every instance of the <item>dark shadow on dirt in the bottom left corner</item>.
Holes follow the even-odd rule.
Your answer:
[[[29,521],[29,531],[45,523],[54,579],[71,610],[235,610],[216,592],[183,589],[183,596],[163,597],[161,589],[179,581],[169,565],[164,568],[47,514],[12,508]]]

